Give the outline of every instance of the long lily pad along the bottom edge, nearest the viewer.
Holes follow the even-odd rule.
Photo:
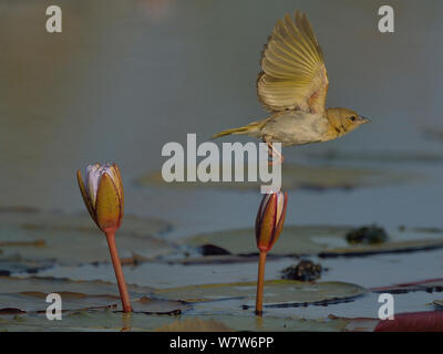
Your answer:
[[[346,330],[350,320],[299,317],[239,316],[239,315],[146,315],[143,313],[120,313],[107,309],[69,311],[62,321],[48,321],[42,313],[0,315],[0,331],[60,332],[60,331],[328,331]]]

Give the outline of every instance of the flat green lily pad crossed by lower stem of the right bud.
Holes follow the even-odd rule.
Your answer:
[[[164,299],[182,299],[186,302],[204,302],[239,298],[246,303],[255,300],[256,282],[204,284],[159,289],[154,294]],[[364,294],[360,285],[343,282],[306,283],[292,280],[265,281],[264,302],[266,305],[328,304],[350,300]]]

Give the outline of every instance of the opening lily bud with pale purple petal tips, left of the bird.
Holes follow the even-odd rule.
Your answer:
[[[83,181],[76,171],[80,191],[92,219],[104,231],[116,231],[123,219],[124,195],[117,165],[89,165]]]

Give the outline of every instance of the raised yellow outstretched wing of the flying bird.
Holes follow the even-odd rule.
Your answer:
[[[321,48],[305,13],[278,20],[261,53],[259,102],[268,111],[324,113],[328,74]]]

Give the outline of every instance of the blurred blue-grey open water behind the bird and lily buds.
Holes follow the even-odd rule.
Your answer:
[[[45,9],[63,32],[45,31]],[[443,2],[0,1],[1,207],[83,212],[74,173],[120,165],[126,214],[173,222],[174,235],[249,227],[258,189],[140,184],[168,142],[198,143],[267,116],[256,97],[259,54],[278,18],[306,12],[329,71],[328,106],[372,123],[340,139],[284,150],[286,162],[402,176],[367,188],[296,188],[287,223],[442,226]],[[226,140],[247,142],[246,137]],[[219,143],[218,143],[219,144]],[[327,177],[327,176],[326,176]]]

